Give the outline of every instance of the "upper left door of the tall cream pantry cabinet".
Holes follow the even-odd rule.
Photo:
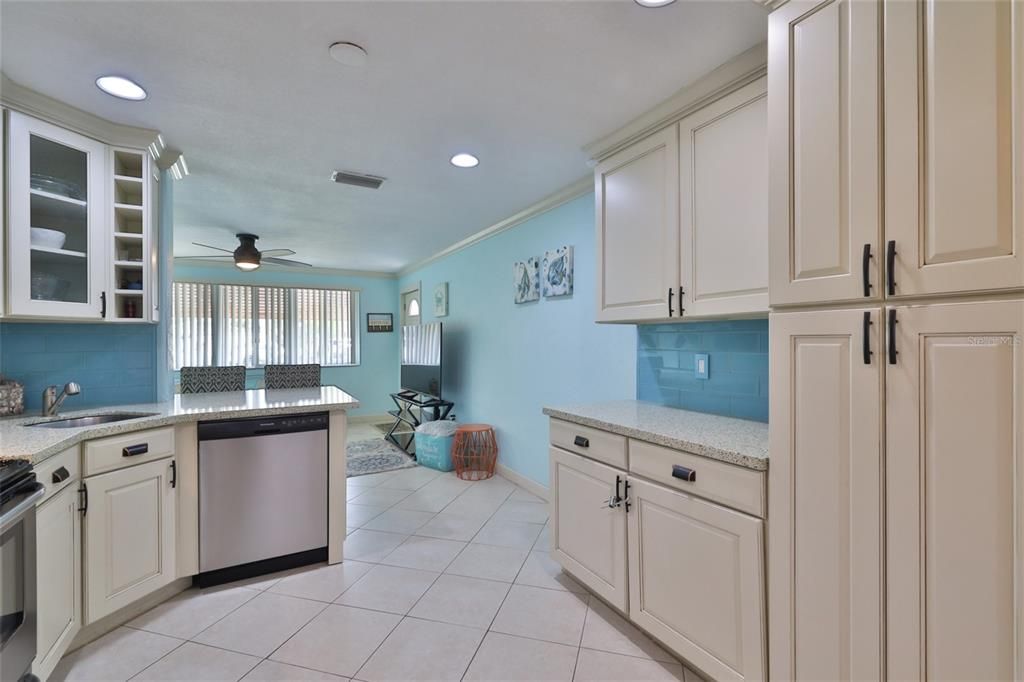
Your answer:
[[[879,298],[880,11],[794,0],[768,25],[772,305]]]

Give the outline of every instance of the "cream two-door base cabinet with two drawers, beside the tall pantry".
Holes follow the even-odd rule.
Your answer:
[[[553,442],[565,432],[552,422]],[[649,443],[629,440],[627,472],[595,461],[614,453],[592,433],[578,442],[587,457],[550,451],[552,557],[709,678],[767,679],[764,520],[678,489],[678,479],[638,476],[632,468],[649,459]],[[690,466],[696,458],[659,449],[671,454]],[[699,484],[726,499],[751,502],[751,485],[731,489],[736,481],[764,489],[761,472],[698,461]],[[731,478],[731,469],[743,475]]]

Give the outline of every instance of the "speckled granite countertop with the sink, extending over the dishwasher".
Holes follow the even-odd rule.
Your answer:
[[[68,406],[74,397],[69,398]],[[58,417],[20,415],[0,419],[0,461],[32,460],[39,463],[47,457],[83,440],[101,438],[180,422],[214,419],[242,419],[270,415],[294,415],[305,412],[333,412],[358,408],[359,401],[337,386],[319,388],[282,388],[226,393],[189,393],[175,395],[165,402],[121,404],[92,410],[61,412]],[[138,413],[137,419],[79,428],[47,429],[28,424],[103,415],[112,412]]]

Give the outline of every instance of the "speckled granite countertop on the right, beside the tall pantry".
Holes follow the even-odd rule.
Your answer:
[[[768,425],[640,400],[545,408],[544,414],[748,469],[768,469]]]

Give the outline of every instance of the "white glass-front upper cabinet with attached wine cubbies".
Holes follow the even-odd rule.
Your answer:
[[[6,312],[154,319],[148,153],[16,112],[7,123]]]

